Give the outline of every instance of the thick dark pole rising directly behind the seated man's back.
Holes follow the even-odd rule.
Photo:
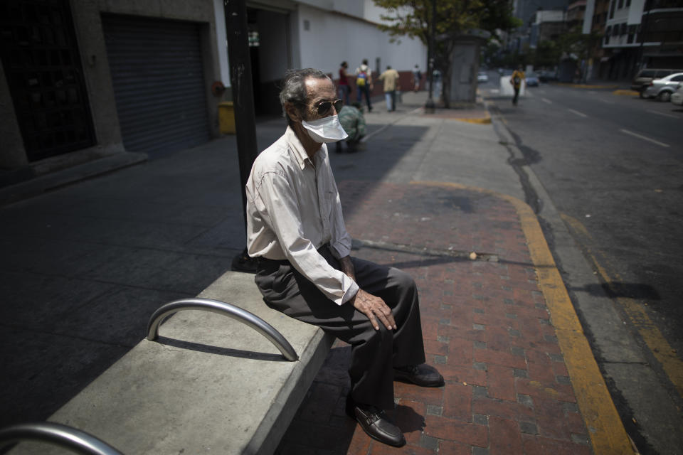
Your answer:
[[[235,109],[235,132],[242,186],[242,215],[244,230],[247,231],[247,193],[245,185],[251,166],[258,156],[256,145],[256,114],[254,90],[251,81],[251,55],[249,52],[249,31],[247,28],[247,7],[245,0],[224,0],[228,57],[230,60],[230,81],[233,87]],[[246,239],[246,235],[245,235]],[[247,255],[247,248],[233,258],[233,270],[255,272],[255,260]]]

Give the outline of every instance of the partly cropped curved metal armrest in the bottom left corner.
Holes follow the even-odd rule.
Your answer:
[[[0,429],[0,448],[19,441],[41,441],[83,455],[123,455],[101,439],[68,425],[41,422]]]

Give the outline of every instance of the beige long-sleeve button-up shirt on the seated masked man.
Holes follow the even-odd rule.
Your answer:
[[[356,295],[358,285],[317,252],[328,243],[337,258],[351,252],[326,144],[311,160],[287,127],[254,161],[246,193],[251,257],[289,260],[336,304]]]

